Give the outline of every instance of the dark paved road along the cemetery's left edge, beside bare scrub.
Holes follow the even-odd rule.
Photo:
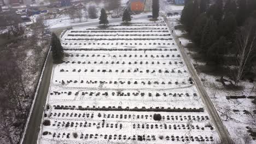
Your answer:
[[[37,99],[34,102],[34,107],[31,113],[30,122],[28,122],[27,130],[22,144],[35,144],[40,130],[40,123],[44,112],[45,101],[48,94],[48,89],[51,80],[51,71],[53,69],[53,56],[49,53],[47,62],[45,64],[44,74],[41,85],[38,89]]]

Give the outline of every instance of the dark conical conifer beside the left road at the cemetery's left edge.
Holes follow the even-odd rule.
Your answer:
[[[55,64],[62,63],[63,47],[60,39],[55,33],[51,34],[51,50],[53,51],[53,60]]]

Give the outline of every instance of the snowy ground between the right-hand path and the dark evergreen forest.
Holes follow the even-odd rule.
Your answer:
[[[177,19],[170,18],[170,21],[173,22],[174,26],[180,25]],[[185,46],[185,50],[189,53],[191,62],[195,67],[206,65],[205,62],[196,60],[194,56],[197,52],[190,50],[187,47],[191,41],[183,37],[183,34],[186,33],[181,31],[181,29],[176,29],[175,32],[178,35],[179,40],[182,41],[182,44]],[[255,83],[243,80],[239,84],[241,87],[240,89],[229,89],[223,86],[222,83],[216,81],[217,79],[220,79],[220,76],[218,75],[203,73],[202,71],[199,71],[198,74],[201,77],[203,85],[210,95],[220,118],[222,118],[225,127],[228,129],[232,140],[235,143],[245,143],[245,141],[256,143],[256,106],[252,103],[252,100],[256,95],[254,90]],[[228,77],[224,76],[224,79],[228,79]],[[225,83],[226,85],[229,85],[229,82]],[[229,98],[230,96],[231,98]],[[254,137],[252,135],[254,135]]]

